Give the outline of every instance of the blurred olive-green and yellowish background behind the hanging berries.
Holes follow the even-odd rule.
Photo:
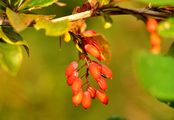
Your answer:
[[[53,5],[36,13],[71,14],[81,0],[64,0],[66,7]],[[120,3],[125,7],[140,7],[132,2]],[[44,31],[28,28],[21,35],[28,42],[31,56],[24,52],[22,68],[16,77],[0,70],[0,120],[174,120],[174,110],[143,90],[134,73],[133,56],[149,49],[149,34],[145,24],[133,16],[114,16],[114,24],[104,29],[101,17],[87,20],[88,29],[103,33],[111,45],[112,59],[106,63],[113,71],[108,80],[109,104],[92,101],[84,110],[71,103],[71,88],[66,84],[65,68],[77,59],[73,43],[45,36]],[[163,40],[165,53],[172,40]]]

